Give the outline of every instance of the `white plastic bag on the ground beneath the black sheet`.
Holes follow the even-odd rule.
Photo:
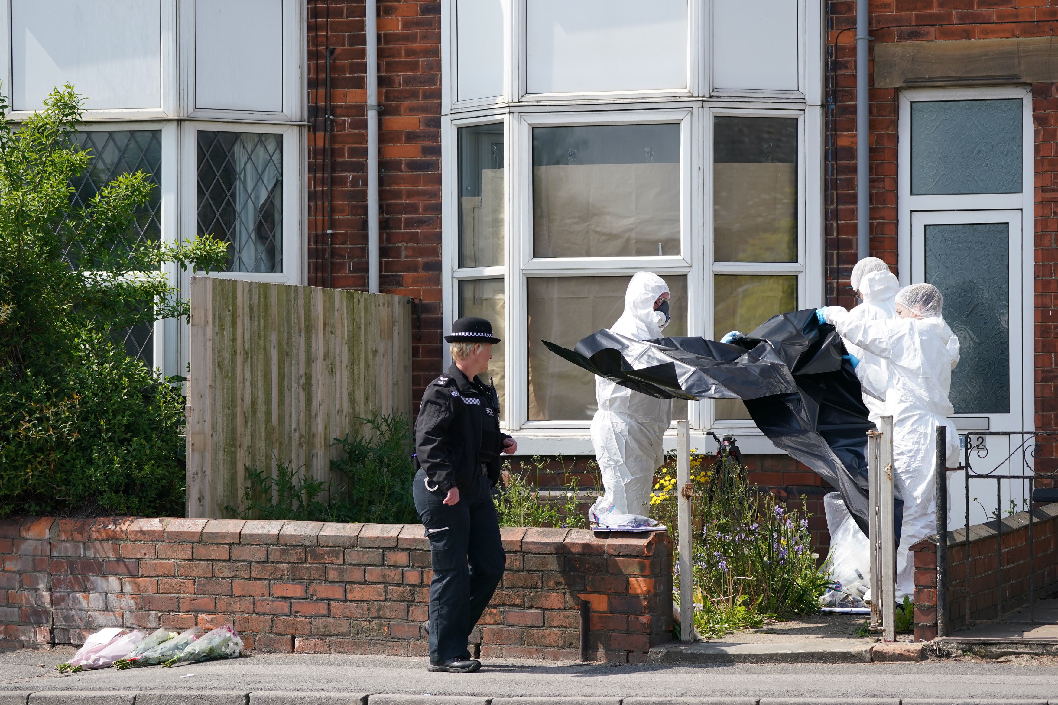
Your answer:
[[[823,512],[831,533],[828,561],[834,588],[819,601],[823,607],[867,607],[863,598],[871,589],[870,541],[849,514],[839,493],[823,498]]]

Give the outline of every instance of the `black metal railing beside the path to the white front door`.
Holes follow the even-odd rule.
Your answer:
[[[1017,482],[1022,483],[1021,496],[1023,499],[1022,509],[1028,515],[1028,620],[1030,625],[1036,624],[1034,604],[1035,595],[1035,546],[1034,546],[1034,503],[1058,502],[1058,487],[1044,486],[1037,487],[1039,480],[1044,480],[1048,485],[1054,481],[1058,471],[1040,471],[1036,467],[1037,451],[1041,444],[1056,444],[1058,446],[1058,431],[964,431],[960,434],[961,447],[963,449],[963,463],[959,467],[947,467],[947,429],[938,427],[936,430],[936,467],[947,467],[947,472],[936,474],[936,627],[937,636],[948,635],[948,472],[964,472],[963,476],[963,544],[965,546],[967,590],[963,599],[965,600],[966,625],[973,624],[971,619],[971,593],[970,582],[970,481],[993,481],[996,483],[996,509],[991,514],[991,519],[996,526],[996,618],[1000,620],[1003,615],[1003,483],[1007,483],[1007,497],[1011,497],[1010,488]],[[990,437],[1007,437],[1010,439],[1010,450],[1005,458],[998,459],[992,469],[974,471],[973,462],[981,462],[988,458],[989,448],[987,439]],[[1015,442],[1020,443],[1015,445]],[[978,501],[973,498],[972,501]],[[1009,515],[1016,514],[1017,503],[1013,503],[1008,511]],[[980,502],[979,502],[980,503]],[[984,505],[982,504],[982,508]],[[985,509],[986,517],[988,516]],[[992,522],[987,522],[992,523]]]

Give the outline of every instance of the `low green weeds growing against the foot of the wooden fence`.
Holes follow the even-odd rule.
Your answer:
[[[248,467],[242,505],[224,508],[240,519],[417,523],[411,420],[376,414],[361,421],[369,429],[366,437],[335,439],[342,457],[331,461],[331,470],[342,482],[310,480],[304,468],[291,470],[285,463],[278,463],[275,477]]]

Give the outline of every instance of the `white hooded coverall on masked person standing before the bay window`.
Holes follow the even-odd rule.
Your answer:
[[[638,272],[624,293],[624,313],[609,330],[637,340],[660,338],[665,315],[654,302],[669,291],[656,274]],[[605,488],[620,514],[650,516],[654,470],[664,462],[661,438],[672,422],[672,400],[659,400],[596,377],[599,409],[591,418],[591,445]]]

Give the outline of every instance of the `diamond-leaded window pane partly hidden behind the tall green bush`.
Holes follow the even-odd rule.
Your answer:
[[[88,168],[71,180],[71,205],[85,206],[101,188],[124,173],[143,171],[150,189],[147,202],[135,209],[132,223],[135,242],[157,242],[162,237],[162,132],[161,130],[92,130],[77,132],[71,140],[80,149],[92,150]],[[116,246],[116,243],[114,244]],[[70,254],[71,266],[76,255]],[[154,363],[154,324],[140,323],[116,331],[114,342],[125,346],[129,357]]]

